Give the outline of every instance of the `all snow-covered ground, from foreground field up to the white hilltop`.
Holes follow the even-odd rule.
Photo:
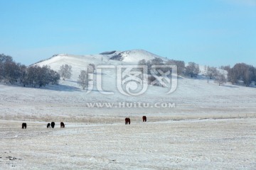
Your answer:
[[[39,62],[55,70],[72,65],[73,77],[58,86],[0,84],[0,169],[255,169],[255,88],[178,77],[172,94],[149,86],[143,95],[124,96],[117,90],[116,70],[107,69],[102,89],[114,94],[101,94],[96,86],[89,94],[82,91],[76,81],[90,63],[117,66],[157,57],[132,50],[122,52],[124,61],[110,60],[117,54],[56,55]],[[152,107],[122,107],[137,102]],[[124,125],[127,117],[131,125]],[[46,129],[51,121],[57,127]]]

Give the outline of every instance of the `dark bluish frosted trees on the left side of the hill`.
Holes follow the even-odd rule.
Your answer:
[[[90,80],[88,74],[95,72],[95,64],[89,64],[87,70],[81,70],[78,77],[78,85],[82,89],[88,86]],[[6,84],[19,84],[22,86],[42,87],[48,84],[58,84],[60,78],[70,79],[72,66],[63,64],[58,72],[48,66],[28,66],[14,62],[9,55],[0,54],[0,82]]]

